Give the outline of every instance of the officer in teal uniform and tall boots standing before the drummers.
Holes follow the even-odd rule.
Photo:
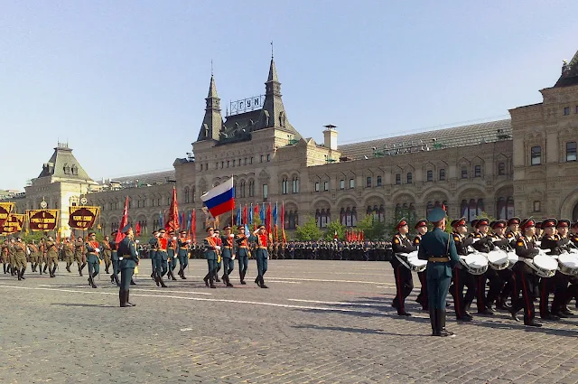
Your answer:
[[[417,257],[427,260],[427,287],[432,336],[452,336],[445,329],[445,298],[452,280],[452,267],[459,263],[452,235],[445,233],[445,211],[433,208],[427,215],[433,231],[422,237]]]

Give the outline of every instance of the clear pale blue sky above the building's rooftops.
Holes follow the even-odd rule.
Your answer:
[[[483,5],[487,4],[487,5]],[[578,50],[576,1],[0,3],[0,189],[57,140],[95,179],[172,168],[210,80],[223,112],[262,94],[275,41],[287,117],[341,144],[508,116]]]

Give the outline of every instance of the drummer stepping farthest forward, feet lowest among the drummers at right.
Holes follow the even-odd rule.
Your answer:
[[[541,323],[537,323],[534,313],[534,271],[525,262],[524,258],[533,259],[538,253],[539,249],[536,245],[536,223],[532,218],[522,220],[520,229],[523,235],[516,241],[516,254],[520,258],[514,266],[515,286],[514,295],[512,295],[512,308],[510,314],[512,318],[519,321],[517,312],[524,309],[524,324],[532,327],[541,327]],[[522,299],[520,300],[519,292],[522,292]]]

